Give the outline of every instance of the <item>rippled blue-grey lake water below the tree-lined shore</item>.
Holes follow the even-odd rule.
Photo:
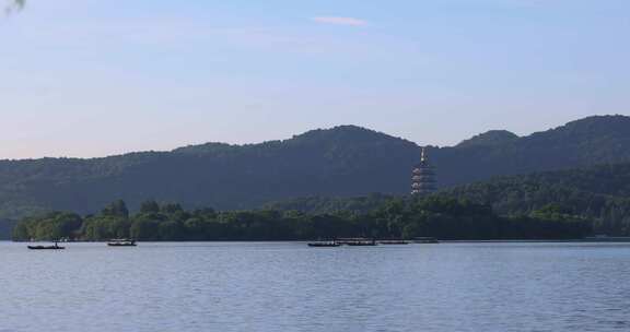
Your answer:
[[[630,331],[630,245],[0,242],[0,331]]]

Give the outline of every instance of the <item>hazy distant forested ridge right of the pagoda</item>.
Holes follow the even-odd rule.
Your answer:
[[[523,138],[493,131],[433,155],[442,186],[630,162],[630,117],[590,117]]]

